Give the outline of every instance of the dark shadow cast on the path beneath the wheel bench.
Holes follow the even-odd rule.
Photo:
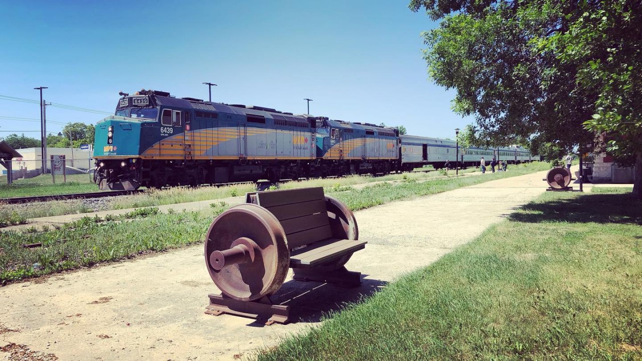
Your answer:
[[[357,303],[383,290],[388,284],[361,275],[361,285],[345,288],[331,283],[303,282],[294,279],[286,282],[272,297],[275,304],[290,306],[290,323],[320,322],[324,315],[341,312],[350,303]],[[263,326],[252,322],[251,326]]]

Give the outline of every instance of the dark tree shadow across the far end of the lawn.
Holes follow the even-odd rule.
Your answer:
[[[526,204],[508,219],[528,223],[557,221],[642,225],[642,202],[630,194],[586,194]]]

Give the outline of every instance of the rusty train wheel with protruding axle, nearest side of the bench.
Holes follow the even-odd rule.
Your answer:
[[[210,225],[205,263],[223,294],[253,301],[281,288],[290,267],[290,250],[272,213],[256,204],[239,204]]]

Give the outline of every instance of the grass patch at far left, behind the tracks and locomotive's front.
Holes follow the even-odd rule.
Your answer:
[[[6,177],[4,182],[0,182],[0,198],[95,191],[98,191],[98,186],[91,182],[87,174],[67,175],[66,183],[62,182],[62,175],[56,175],[56,183],[53,184],[51,174],[39,175],[30,179],[17,179],[10,186],[6,184]]]

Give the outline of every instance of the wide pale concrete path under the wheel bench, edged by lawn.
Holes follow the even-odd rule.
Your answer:
[[[202,245],[5,286],[0,288],[0,360],[13,359],[9,349],[31,353],[30,360],[54,355],[59,360],[245,358],[473,240],[543,193],[545,174],[356,212],[360,238],[369,244],[347,268],[362,272],[363,284],[346,289],[288,277],[273,297],[293,308],[294,321],[286,325],[206,315],[207,294],[218,290],[205,269]],[[15,345],[7,348],[11,342]]]

